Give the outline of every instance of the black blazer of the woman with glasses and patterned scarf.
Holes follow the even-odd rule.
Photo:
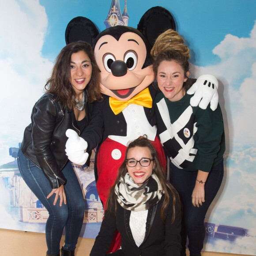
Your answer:
[[[171,195],[170,198],[172,198]],[[176,218],[171,224],[173,207],[172,200],[170,200],[166,221],[163,222],[161,218],[162,202],[163,198],[157,205],[148,210],[146,234],[143,243],[139,247],[132,237],[129,225],[131,211],[125,210],[119,203],[117,203],[116,215],[106,211],[101,229],[90,252],[90,256],[106,255],[116,229],[121,235],[122,249],[120,250],[120,255],[180,256],[181,209],[179,203],[176,203]]]

